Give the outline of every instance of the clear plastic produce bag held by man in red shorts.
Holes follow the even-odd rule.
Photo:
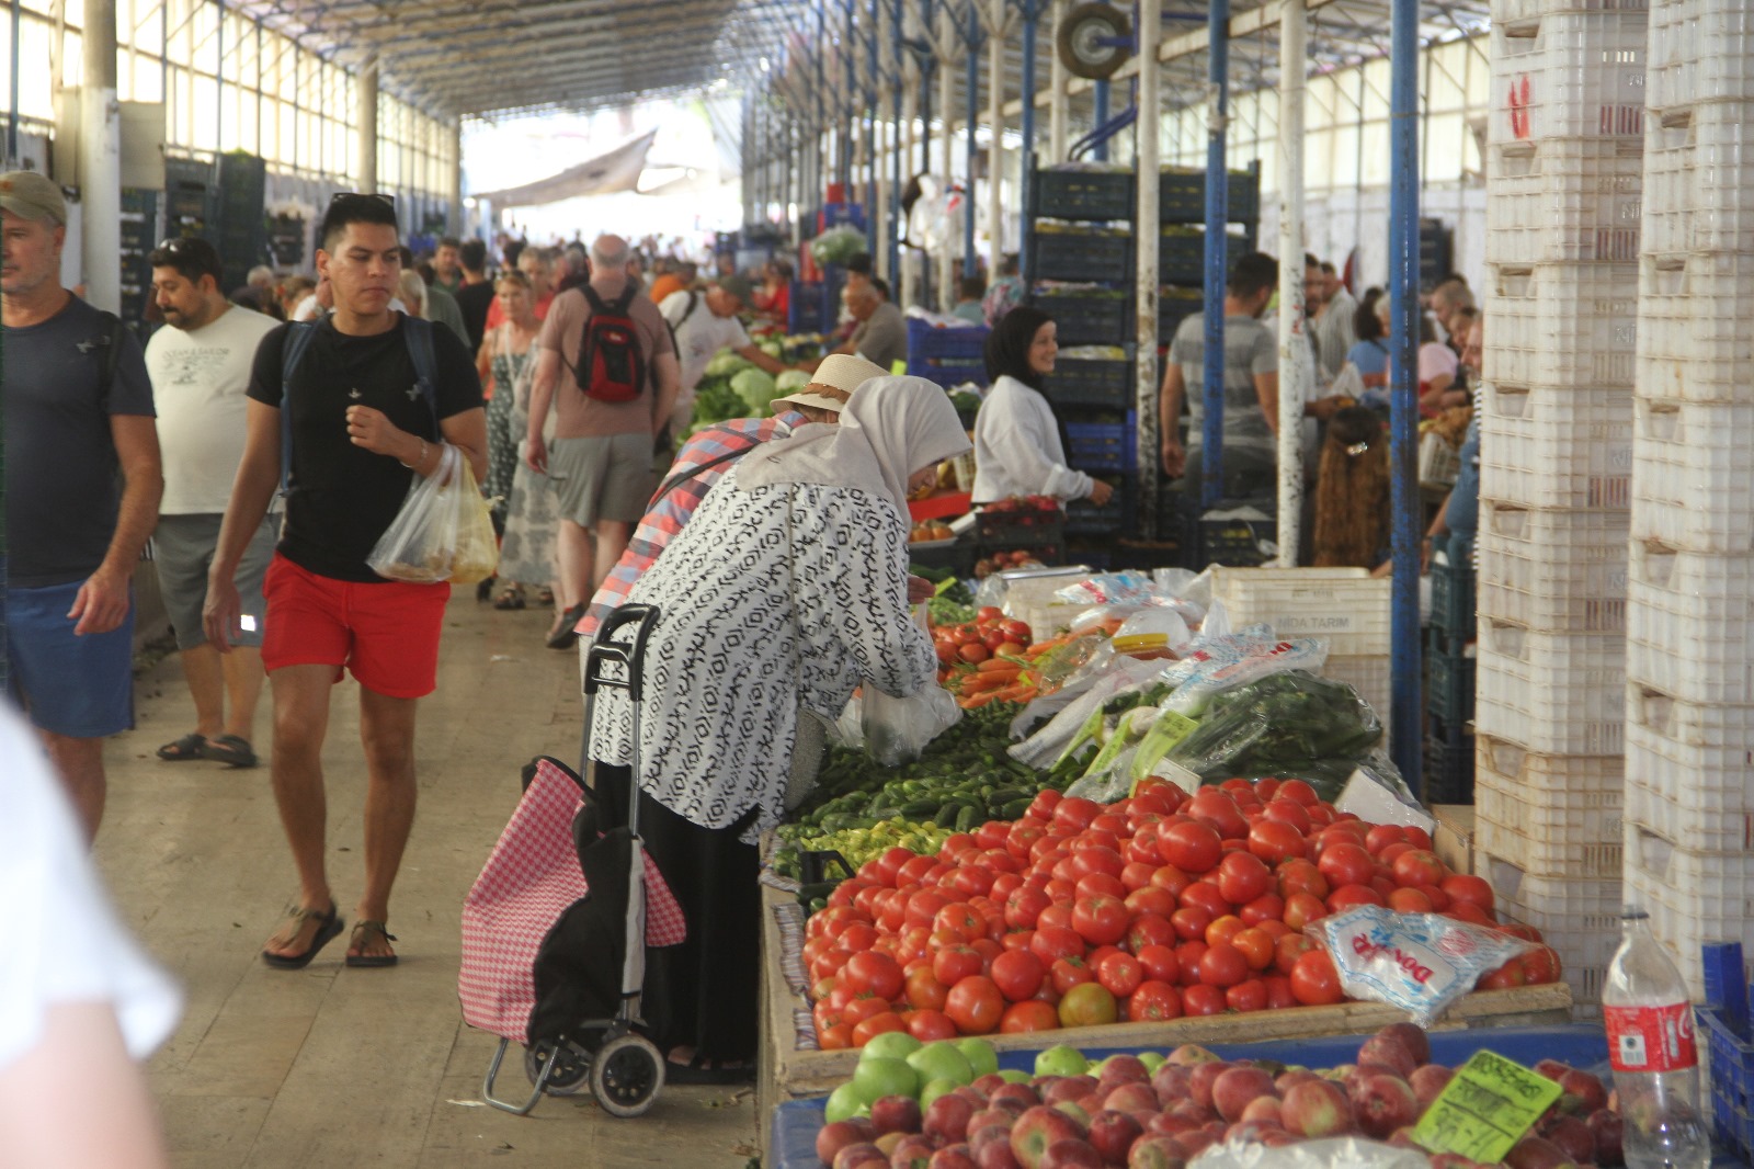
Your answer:
[[[412,584],[474,584],[493,576],[500,549],[488,502],[463,451],[440,444],[438,469],[414,476],[402,511],[365,558],[382,577]]]

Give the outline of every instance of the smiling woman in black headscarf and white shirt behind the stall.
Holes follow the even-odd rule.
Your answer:
[[[1042,384],[1054,372],[1054,321],[1017,305],[993,326],[986,344],[993,381],[975,416],[975,502],[1010,495],[1089,498],[1102,507],[1114,488],[1066,465],[1066,442]]]

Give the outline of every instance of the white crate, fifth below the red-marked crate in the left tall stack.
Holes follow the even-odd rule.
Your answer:
[[[1626,642],[1482,616],[1473,723],[1542,755],[1617,755],[1626,725]]]

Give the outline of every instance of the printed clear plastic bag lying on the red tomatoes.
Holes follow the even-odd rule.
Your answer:
[[[1335,913],[1305,932],[1328,948],[1347,995],[1401,1008],[1426,1029],[1473,990],[1480,974],[1533,950],[1521,937],[1440,913],[1382,906]]]

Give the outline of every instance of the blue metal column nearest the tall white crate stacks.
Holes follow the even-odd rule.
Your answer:
[[[1414,795],[1419,753],[1419,0],[1389,28],[1389,458],[1394,588],[1389,607],[1389,749]]]

